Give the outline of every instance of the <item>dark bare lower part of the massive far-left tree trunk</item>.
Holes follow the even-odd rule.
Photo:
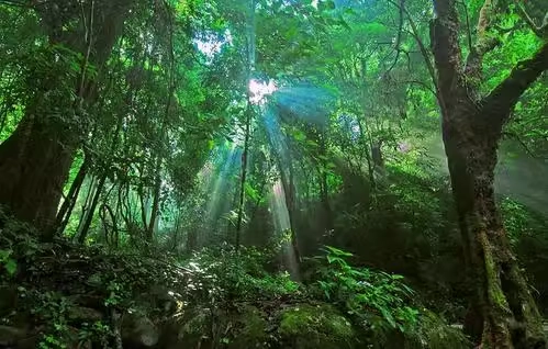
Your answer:
[[[51,238],[76,143],[70,133],[49,128],[41,116],[27,112],[0,146],[0,203]]]

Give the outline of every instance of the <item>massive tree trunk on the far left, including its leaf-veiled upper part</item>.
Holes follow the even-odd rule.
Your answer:
[[[55,232],[63,187],[85,136],[85,124],[75,125],[74,121],[98,97],[96,83],[88,79],[86,70],[90,65],[100,70],[107,63],[132,3],[97,0],[80,7],[74,1],[55,0],[36,5],[49,43],[83,57],[81,74],[74,81],[63,77],[31,79],[42,91],[26,105],[15,132],[0,145],[0,204],[15,217],[35,225],[46,239]],[[57,90],[70,85],[76,100],[69,89]],[[44,98],[52,94],[51,90],[56,101]],[[58,105],[64,109],[58,111]]]

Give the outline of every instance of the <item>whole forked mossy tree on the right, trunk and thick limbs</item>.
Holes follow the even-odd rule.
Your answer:
[[[503,127],[521,95],[548,69],[548,44],[482,95],[483,58],[501,44],[493,31],[504,3],[484,1],[478,38],[466,61],[457,4],[456,0],[434,1],[430,37],[443,137],[473,288],[471,304],[484,347],[540,348],[545,346],[540,316],[511,250],[493,181]]]

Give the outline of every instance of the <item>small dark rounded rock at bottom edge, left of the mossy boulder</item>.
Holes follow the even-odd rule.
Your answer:
[[[158,339],[158,329],[148,317],[132,313],[122,316],[124,348],[154,347]]]

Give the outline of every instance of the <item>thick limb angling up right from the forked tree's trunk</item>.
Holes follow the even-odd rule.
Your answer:
[[[548,43],[533,58],[518,63],[510,76],[483,99],[482,109],[489,111],[485,117],[505,123],[519,97],[545,70],[548,70]]]

